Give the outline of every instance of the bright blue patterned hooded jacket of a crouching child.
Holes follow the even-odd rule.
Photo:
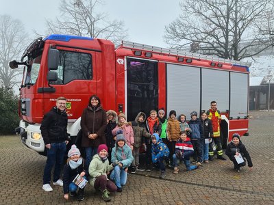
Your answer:
[[[157,163],[161,157],[169,156],[169,148],[162,142],[158,134],[154,133],[153,136],[156,137],[156,143],[151,145],[152,162]]]

